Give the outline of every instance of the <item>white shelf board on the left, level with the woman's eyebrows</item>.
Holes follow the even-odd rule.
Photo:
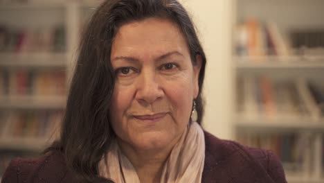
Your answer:
[[[66,67],[66,53],[0,53],[0,67]]]

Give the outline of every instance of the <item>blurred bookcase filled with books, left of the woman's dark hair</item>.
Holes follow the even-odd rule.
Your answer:
[[[99,2],[1,1],[0,177],[10,159],[39,155],[58,132],[84,8]]]

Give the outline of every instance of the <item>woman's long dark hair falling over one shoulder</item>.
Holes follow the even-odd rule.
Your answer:
[[[107,0],[98,7],[82,35],[60,140],[48,148],[64,154],[66,165],[81,182],[107,182],[98,177],[98,162],[114,138],[108,117],[114,90],[111,44],[120,26],[147,17],[173,21],[186,37],[192,64],[196,64],[197,55],[201,56],[196,98],[197,122],[201,123],[206,56],[188,12],[176,0]]]

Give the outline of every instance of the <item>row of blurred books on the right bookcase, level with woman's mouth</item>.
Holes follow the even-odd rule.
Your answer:
[[[237,110],[247,118],[318,121],[324,116],[324,83],[244,75],[237,79]]]

